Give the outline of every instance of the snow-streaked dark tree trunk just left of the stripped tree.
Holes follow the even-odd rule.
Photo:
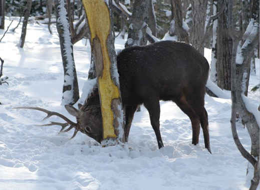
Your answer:
[[[79,86],[71,42],[70,24],[64,0],[56,0],[56,11],[57,30],[60,37],[64,68],[62,104],[73,105],[79,99]]]

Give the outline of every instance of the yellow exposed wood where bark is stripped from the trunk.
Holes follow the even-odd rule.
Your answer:
[[[103,55],[103,71],[98,76],[99,91],[101,98],[101,112],[103,119],[103,137],[116,137],[113,126],[112,99],[120,98],[118,87],[114,84],[111,73],[111,61],[106,45],[110,32],[110,14],[104,0],[82,0],[88,17],[91,42],[98,37],[101,43]]]

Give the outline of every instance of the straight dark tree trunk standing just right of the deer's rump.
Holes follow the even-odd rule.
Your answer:
[[[232,39],[228,35],[227,1],[218,0],[217,12],[223,10],[217,21],[217,85],[222,89],[231,89],[230,69]],[[224,6],[224,7],[222,7]]]

